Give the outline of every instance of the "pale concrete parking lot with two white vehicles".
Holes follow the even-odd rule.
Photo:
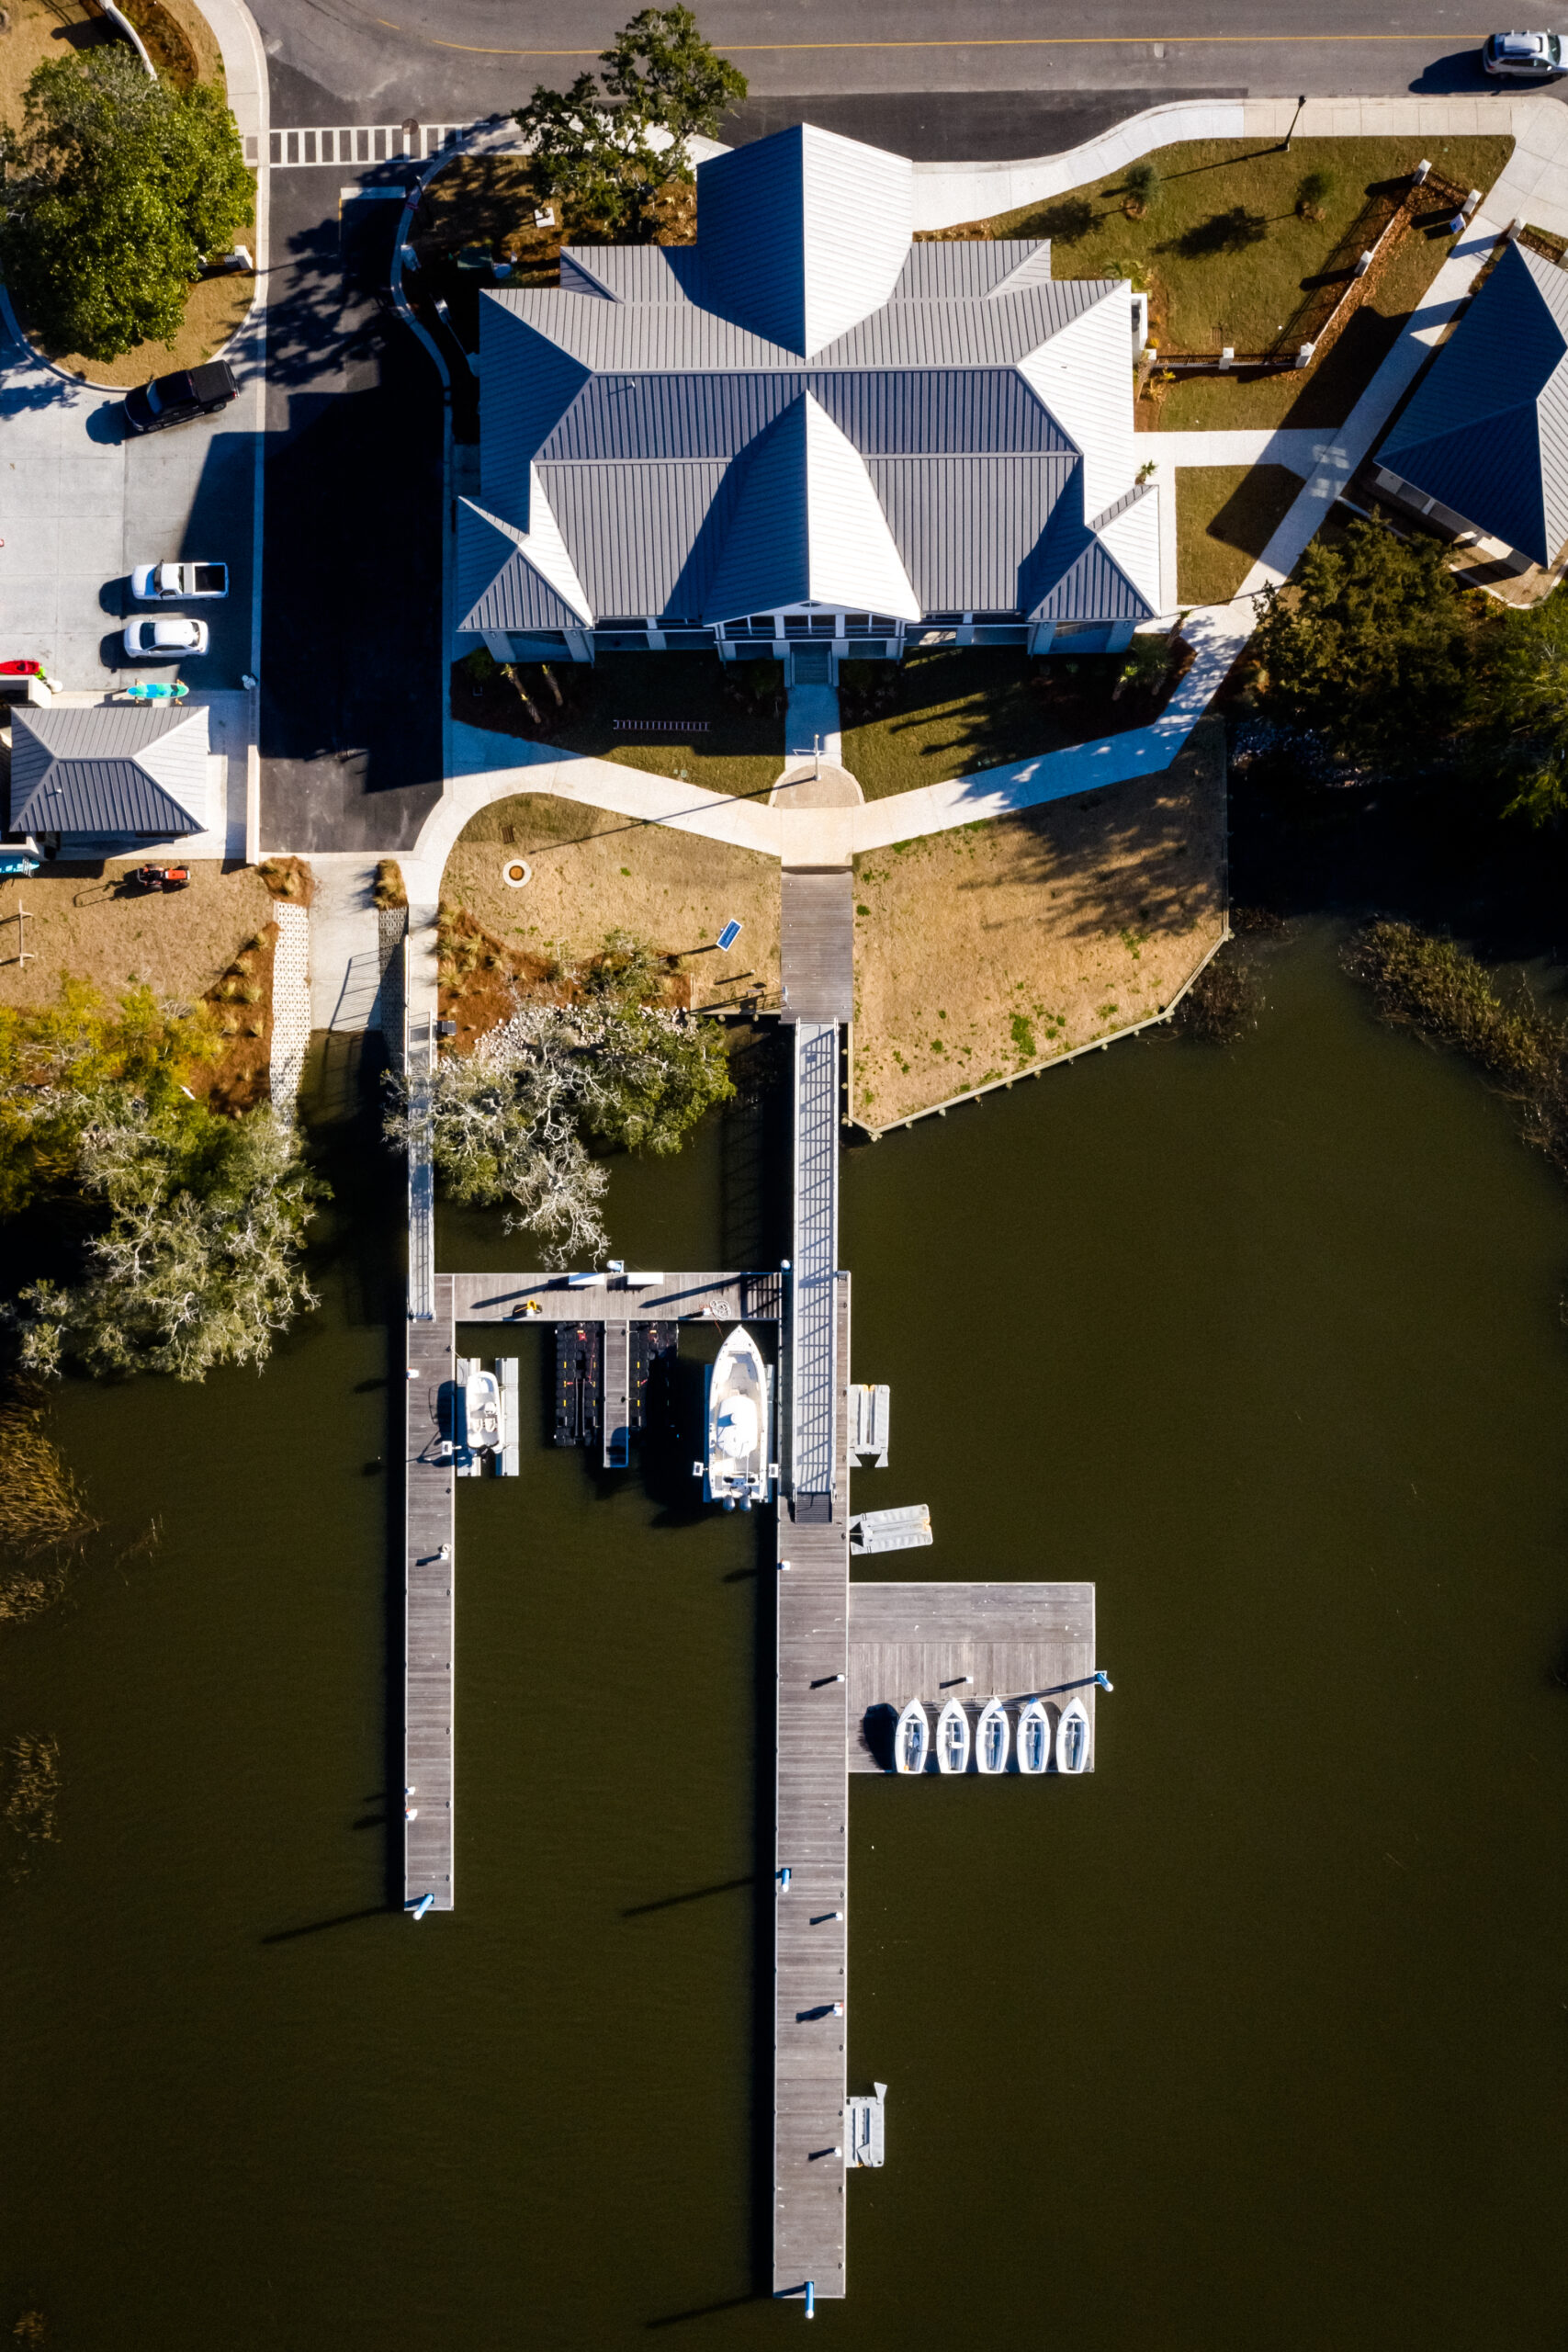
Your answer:
[[[82,691],[179,677],[240,687],[252,668],[252,510],[256,386],[169,433],[127,440],[122,393],[73,383],[0,327],[0,659],[42,661]],[[230,353],[235,372],[244,358]],[[228,597],[174,604],[200,614],[212,649],[181,663],[132,663],[136,562],[228,564]]]

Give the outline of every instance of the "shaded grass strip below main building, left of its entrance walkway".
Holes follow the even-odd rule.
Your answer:
[[[776,661],[729,668],[717,654],[599,654],[548,670],[522,663],[517,684],[475,682],[463,663],[451,673],[451,715],[470,727],[686,776],[710,793],[771,793],[783,774],[783,713]]]

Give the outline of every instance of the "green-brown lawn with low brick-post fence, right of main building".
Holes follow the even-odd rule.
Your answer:
[[[1161,350],[1265,350],[1288,327],[1312,280],[1352,228],[1368,193],[1408,174],[1422,155],[1483,193],[1512,139],[1298,139],[1291,153],[1246,139],[1194,139],[1147,158],[1159,183],[1128,216],[1126,172],[1025,205],[952,235],[1051,238],[1058,278],[1131,278],[1150,289],[1152,341]],[[1302,205],[1302,181],[1328,188]],[[1302,376],[1206,376],[1171,386],[1143,426],[1342,423],[1399,327],[1448,254],[1448,238],[1413,233],[1352,327]],[[1366,318],[1366,325],[1361,325]]]

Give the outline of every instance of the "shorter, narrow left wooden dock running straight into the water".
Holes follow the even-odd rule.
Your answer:
[[[404,1762],[416,1809],[404,1820],[404,1903],[451,1910],[454,1465],[440,1458],[442,1385],[451,1381],[451,1275],[433,1277],[433,1319],[409,1319],[404,1381]]]

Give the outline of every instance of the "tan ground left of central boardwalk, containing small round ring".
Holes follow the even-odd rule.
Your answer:
[[[503,880],[517,861],[531,875],[522,889]],[[701,833],[522,793],[468,821],[447,858],[442,901],[463,908],[529,981],[583,962],[607,931],[630,931],[677,960],[698,1007],[738,1002],[755,988],[778,995],[778,861]],[[731,920],[741,938],[719,955],[710,941]],[[501,967],[482,967],[475,981],[505,1000]],[[489,995],[475,1004],[468,995],[463,1018],[501,1018]]]

